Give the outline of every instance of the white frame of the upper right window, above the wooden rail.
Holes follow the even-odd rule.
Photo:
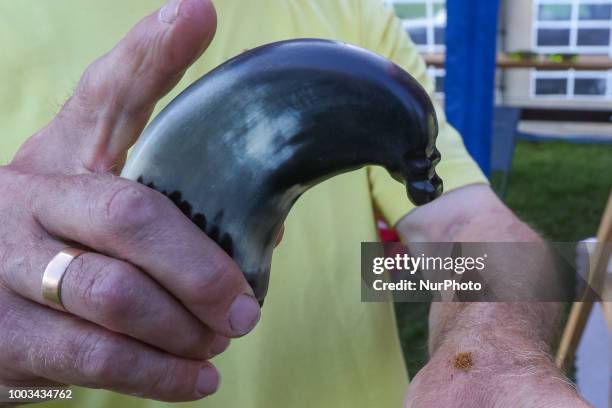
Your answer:
[[[540,21],[540,5],[569,5],[571,16],[565,21]],[[580,20],[580,5],[582,4],[609,4],[612,0],[534,0],[533,1],[533,25],[531,35],[531,46],[535,52],[542,54],[607,54],[612,57],[612,18],[609,20]],[[569,29],[570,41],[568,46],[542,46],[538,45],[539,29]],[[610,41],[607,46],[578,45],[578,30],[582,28],[608,28],[610,29]]]

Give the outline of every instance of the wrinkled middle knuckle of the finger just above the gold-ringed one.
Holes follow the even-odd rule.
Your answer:
[[[154,190],[124,180],[102,198],[102,222],[111,234],[133,234],[155,222],[163,202]]]

